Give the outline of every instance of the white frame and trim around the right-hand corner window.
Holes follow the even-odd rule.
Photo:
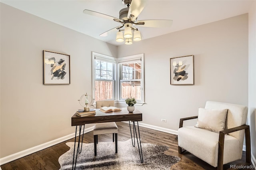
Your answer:
[[[127,56],[127,57],[120,57],[118,58],[117,61],[117,84],[118,84],[118,103],[123,103],[125,104],[124,99],[120,99],[121,96],[121,89],[120,89],[120,85],[121,85],[121,73],[120,73],[120,64],[121,63],[129,63],[129,62],[134,62],[134,61],[141,61],[141,101],[137,101],[137,103],[135,105],[143,105],[144,104],[144,54],[137,54],[137,55],[131,55],[131,56]]]

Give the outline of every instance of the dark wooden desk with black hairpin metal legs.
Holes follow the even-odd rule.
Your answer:
[[[131,132],[131,138],[132,140],[132,146],[135,146],[135,135],[137,138],[138,143],[138,149],[140,154],[140,161],[143,163],[143,156],[142,156],[142,148],[140,143],[140,130],[139,130],[139,124],[138,121],[142,121],[142,113],[135,109],[132,113],[129,113],[127,111],[127,108],[120,108],[122,111],[115,111],[115,112],[108,112],[103,113],[99,111],[99,109],[96,109],[95,115],[85,116],[85,117],[79,117],[76,116],[76,113],[71,117],[71,126],[76,126],[76,132],[77,132],[77,126],[79,126],[79,138],[78,138],[78,147],[76,151],[76,159],[79,153],[82,152],[82,143],[83,143],[83,137],[84,137],[84,130],[82,132],[82,126],[85,126],[85,124],[91,124],[91,123],[107,123],[107,122],[121,122],[121,121],[130,121],[133,122],[133,136],[132,137],[132,129],[130,125],[130,132]],[[138,135],[137,135],[137,129],[135,126],[135,122],[137,122],[138,127]],[[74,154],[73,154],[73,165],[72,170],[76,169],[76,159],[75,159],[75,148],[76,148],[76,132],[75,132],[75,142],[74,142]],[[82,142],[80,143],[80,136],[82,132]],[[139,137],[139,140],[138,140]],[[75,164],[74,164],[75,163]]]

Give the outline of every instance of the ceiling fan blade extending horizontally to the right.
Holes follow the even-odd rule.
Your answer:
[[[144,22],[144,25],[141,25],[140,23]],[[137,23],[134,23],[134,25],[140,26],[140,27],[154,27],[154,28],[161,28],[161,27],[170,27],[172,26],[172,20],[140,20]]]

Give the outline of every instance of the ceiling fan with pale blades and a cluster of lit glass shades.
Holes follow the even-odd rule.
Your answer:
[[[119,19],[106,14],[95,12],[92,10],[84,10],[83,13],[119,22],[122,26],[112,28],[111,30],[108,30],[100,34],[100,36],[105,37],[105,36],[108,36],[109,34],[112,34],[113,32],[118,31],[116,32],[116,41],[123,42],[125,38],[125,44],[132,44],[132,32],[134,32],[134,36],[133,36],[134,41],[141,40],[140,31],[135,26],[154,27],[154,28],[172,26],[172,20],[139,20],[137,21],[138,16],[142,12],[146,4],[145,0],[122,0],[122,3],[126,6],[126,8],[123,8],[120,10]],[[122,31],[124,31],[124,35]]]

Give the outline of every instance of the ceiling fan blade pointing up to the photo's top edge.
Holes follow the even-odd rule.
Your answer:
[[[132,0],[127,17],[130,18],[130,16],[132,15],[134,16],[132,18],[132,21],[135,21],[138,15],[140,15],[140,12],[142,12],[142,10],[144,9],[145,4],[145,0]]]

